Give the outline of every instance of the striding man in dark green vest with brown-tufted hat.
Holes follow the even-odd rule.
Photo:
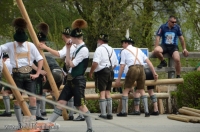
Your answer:
[[[67,102],[74,96],[74,106],[80,111],[90,114],[88,108],[85,105],[85,87],[86,79],[84,77],[85,71],[89,61],[89,50],[85,46],[83,41],[82,29],[87,26],[87,22],[83,19],[77,19],[72,23],[72,32],[70,34],[72,42],[66,44],[67,55],[66,64],[70,67],[69,74],[67,76],[67,83],[62,90],[58,103],[66,105]],[[72,43],[77,45],[76,50],[73,52],[72,60],[70,58],[70,49]],[[62,107],[57,106],[54,109],[53,114],[49,118],[49,122],[55,122],[55,120],[62,114]],[[87,123],[87,132],[93,132],[92,122],[89,116],[85,116]]]

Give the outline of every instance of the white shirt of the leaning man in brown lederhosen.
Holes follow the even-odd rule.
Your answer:
[[[136,50],[138,49],[137,58],[140,62],[138,60],[136,60],[136,62],[135,62],[135,59],[136,59],[135,56],[130,51],[124,49],[121,52],[120,64],[125,64],[128,67],[131,65],[136,65],[136,64],[144,65],[144,63],[148,57],[142,52],[142,50],[139,48],[133,47],[132,45],[128,45],[127,48],[130,51],[132,51],[135,54],[135,56],[136,56]],[[134,62],[135,62],[135,64],[134,64]]]

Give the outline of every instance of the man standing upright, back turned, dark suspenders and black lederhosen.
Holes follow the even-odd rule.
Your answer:
[[[99,105],[101,114],[99,117],[103,119],[113,119],[110,91],[114,79],[113,69],[117,65],[118,60],[115,51],[108,45],[108,35],[100,34],[90,70],[90,78],[92,78],[94,72],[95,87],[100,92]],[[108,110],[107,113],[106,108]]]

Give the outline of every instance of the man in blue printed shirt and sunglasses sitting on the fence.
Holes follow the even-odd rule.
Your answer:
[[[161,45],[159,45],[160,38],[162,38]],[[162,68],[167,66],[167,62],[164,60],[163,54],[168,53],[175,62],[176,77],[180,78],[180,55],[178,52],[178,38],[180,39],[181,46],[183,49],[183,55],[188,56],[188,51],[186,49],[184,37],[180,26],[176,24],[176,18],[170,16],[168,22],[160,26],[156,33],[155,49],[153,51],[154,55],[161,60],[157,68]]]

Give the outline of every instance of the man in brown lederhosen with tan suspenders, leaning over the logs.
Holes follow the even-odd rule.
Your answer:
[[[144,103],[145,116],[149,116],[147,96],[145,96],[144,91],[146,79],[143,66],[144,62],[149,65],[149,68],[153,73],[154,79],[158,79],[158,75],[156,74],[151,61],[140,49],[132,46],[132,41],[133,40],[130,37],[126,37],[124,40],[121,41],[124,50],[122,50],[121,52],[120,70],[118,74],[118,79],[116,79],[116,85],[120,85],[121,76],[126,65],[129,67],[129,70],[125,77],[124,91],[122,95],[122,111],[117,114],[117,116],[119,117],[127,116],[126,108],[128,105],[128,93],[131,90],[135,81],[137,82],[136,93],[140,93]]]

